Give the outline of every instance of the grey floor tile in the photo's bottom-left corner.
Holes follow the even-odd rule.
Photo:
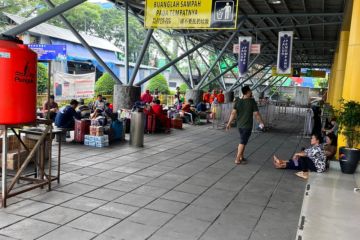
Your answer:
[[[0,234],[17,239],[30,240],[38,238],[56,227],[58,227],[58,225],[28,218],[0,230]]]

